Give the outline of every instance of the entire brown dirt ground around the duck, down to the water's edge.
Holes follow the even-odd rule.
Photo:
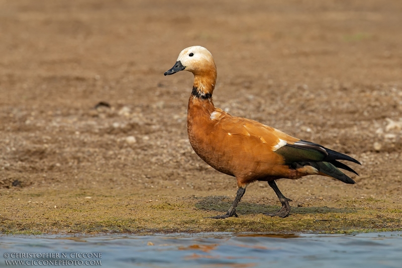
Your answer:
[[[402,229],[401,1],[0,0],[0,232]],[[185,47],[217,107],[347,153],[356,185],[247,188],[191,149]],[[99,102],[110,105],[98,106]]]

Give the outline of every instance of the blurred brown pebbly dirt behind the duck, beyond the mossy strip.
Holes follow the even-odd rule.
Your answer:
[[[234,193],[188,143],[192,74],[163,76],[200,45],[217,107],[362,162],[356,188],[311,189],[400,197],[401,14],[373,0],[0,0],[0,188]]]

